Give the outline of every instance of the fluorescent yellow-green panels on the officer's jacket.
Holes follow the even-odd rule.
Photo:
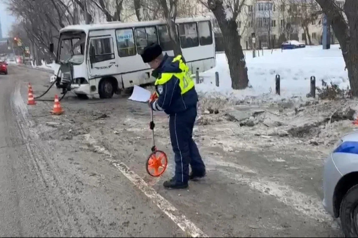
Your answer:
[[[160,78],[155,81],[155,86],[163,85],[167,83],[172,76],[179,78],[179,87],[181,94],[185,94],[194,87],[194,81],[192,80],[189,72],[189,67],[183,62],[182,56],[178,55],[173,59],[172,62],[179,61],[179,68],[182,70],[181,73],[162,73]],[[156,88],[156,87],[155,87]],[[158,92],[156,92],[158,94]]]

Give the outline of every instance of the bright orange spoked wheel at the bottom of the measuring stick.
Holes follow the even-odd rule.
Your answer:
[[[159,177],[167,169],[167,166],[167,155],[161,150],[155,150],[148,157],[146,169],[150,176]]]

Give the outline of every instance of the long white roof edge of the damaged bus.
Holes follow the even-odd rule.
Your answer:
[[[175,23],[185,23],[192,21],[207,21],[212,18],[209,16],[201,16],[201,17],[189,17],[189,18],[177,18]],[[119,29],[119,28],[132,28],[132,27],[145,27],[146,25],[158,25],[158,24],[166,24],[165,19],[161,20],[153,20],[153,21],[137,21],[137,22],[120,22],[120,21],[110,21],[99,24],[82,24],[82,25],[68,25],[65,28],[60,30],[62,32],[68,31],[83,31],[88,33],[89,31],[95,30],[109,30],[109,29]]]

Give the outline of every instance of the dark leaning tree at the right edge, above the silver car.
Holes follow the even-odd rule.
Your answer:
[[[333,0],[316,0],[337,37],[348,70],[353,96],[358,96],[358,1],[346,0],[344,12]]]

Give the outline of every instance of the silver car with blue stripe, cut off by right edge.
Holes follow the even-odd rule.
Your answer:
[[[346,237],[358,237],[358,130],[343,136],[326,159],[323,206],[340,218]]]

